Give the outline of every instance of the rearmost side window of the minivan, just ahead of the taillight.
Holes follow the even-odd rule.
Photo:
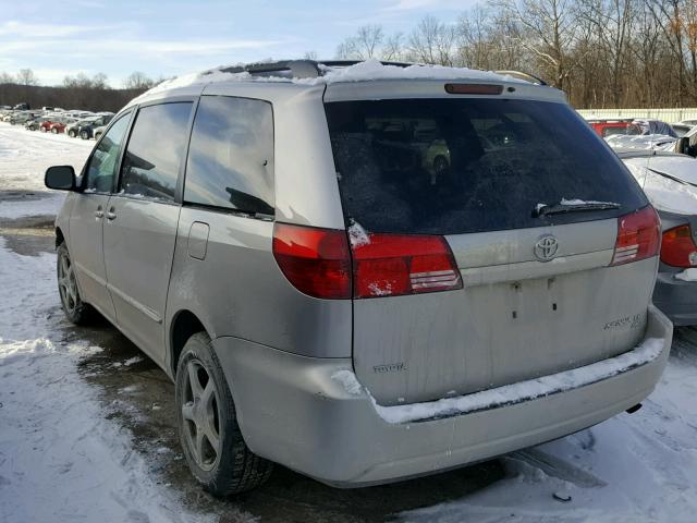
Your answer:
[[[273,214],[271,104],[224,96],[200,98],[184,199],[243,212]]]

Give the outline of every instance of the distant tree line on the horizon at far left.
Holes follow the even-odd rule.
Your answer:
[[[62,85],[41,86],[30,69],[22,69],[16,75],[0,72],[0,106],[26,102],[30,108],[61,107],[90,111],[117,112],[132,98],[156,84],[145,73],[134,72],[122,88],[112,88],[107,75],[97,73],[87,76],[78,73],[65,76]]]

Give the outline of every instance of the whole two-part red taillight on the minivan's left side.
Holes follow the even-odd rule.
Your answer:
[[[350,248],[346,231],[277,222],[273,257],[293,287],[314,297],[462,289],[460,270],[442,236],[368,234],[365,243]]]

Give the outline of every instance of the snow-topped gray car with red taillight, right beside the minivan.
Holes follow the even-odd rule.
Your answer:
[[[661,217],[653,303],[674,325],[697,325],[697,159],[664,151],[619,151]]]

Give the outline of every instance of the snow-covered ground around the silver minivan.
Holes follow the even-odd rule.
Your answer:
[[[57,199],[8,203],[3,191],[45,195],[44,169],[78,168],[91,145],[0,123],[0,522],[196,522],[249,507],[261,515],[237,512],[224,521],[356,522],[365,501],[380,497],[398,521],[418,523],[697,521],[694,329],[676,329],[667,373],[639,412],[505,457],[503,478],[448,502],[437,490],[453,473],[334,492],[280,470],[274,476],[281,479],[257,495],[215,501],[215,515],[185,504],[182,487],[164,485],[81,374],[78,364],[102,349],[80,330],[76,341],[65,341],[54,255],[20,255],[1,236],[7,217],[51,214]],[[314,494],[305,497],[304,490]],[[413,507],[423,508],[405,511]],[[297,516],[307,511],[315,518]]]

